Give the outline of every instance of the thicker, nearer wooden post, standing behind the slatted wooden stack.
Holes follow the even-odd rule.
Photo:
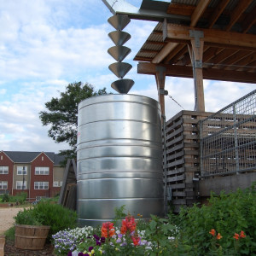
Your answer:
[[[189,31],[191,46],[189,54],[193,66],[194,88],[195,88],[195,111],[205,112],[204,85],[202,73],[202,55],[204,48],[203,32]]]

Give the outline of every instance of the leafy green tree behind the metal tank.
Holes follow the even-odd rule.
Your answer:
[[[49,112],[41,111],[39,117],[43,125],[51,125],[48,136],[52,137],[55,143],[67,142],[71,147],[61,150],[61,155],[76,158],[79,102],[91,96],[106,94],[106,88],[96,91],[91,84],[75,82],[68,84],[66,91],[61,92],[59,98],[52,98],[45,103]]]

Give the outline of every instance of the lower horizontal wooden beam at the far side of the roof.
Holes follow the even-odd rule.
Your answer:
[[[139,62],[137,73],[155,75],[155,64]],[[166,67],[166,76],[193,79],[192,67],[161,65]],[[234,72],[217,68],[203,68],[204,79],[256,84],[256,73]]]

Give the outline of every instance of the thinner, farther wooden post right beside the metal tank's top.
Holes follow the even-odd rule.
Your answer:
[[[158,100],[160,102],[160,107],[161,107],[161,113],[163,116],[166,115],[166,109],[165,109],[165,95],[164,95],[164,90],[165,90],[165,84],[166,84],[166,67],[161,67],[157,66],[155,67],[155,80],[156,80],[156,85],[157,85],[157,90],[158,90]],[[160,91],[162,93],[160,93]]]

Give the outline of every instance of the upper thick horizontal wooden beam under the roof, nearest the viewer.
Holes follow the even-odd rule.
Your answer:
[[[167,24],[166,38],[190,41],[189,31],[195,30],[189,26],[179,26]],[[252,47],[256,49],[256,35],[241,34],[238,32],[225,32],[217,29],[197,29],[204,32],[204,42],[213,44],[236,45],[242,47]],[[241,40],[242,37],[242,40]]]

